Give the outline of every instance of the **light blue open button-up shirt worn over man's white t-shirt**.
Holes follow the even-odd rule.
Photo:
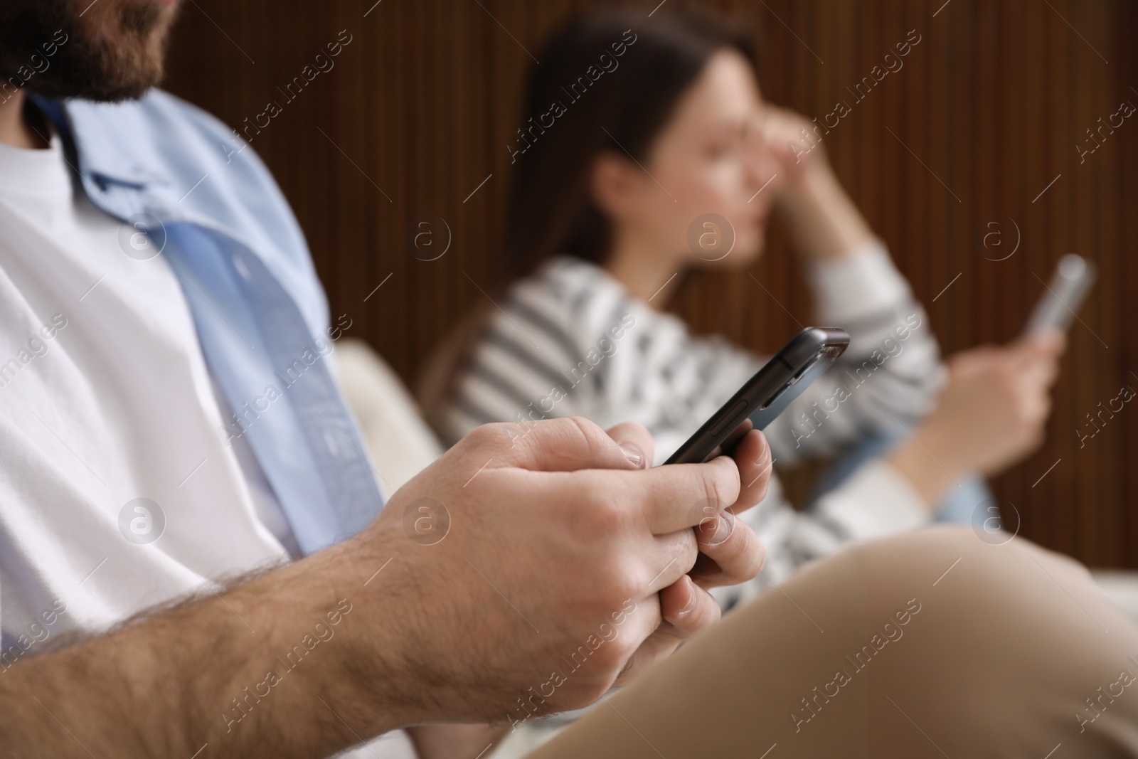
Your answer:
[[[123,104],[33,98],[64,139],[76,185],[178,274],[238,416],[230,432],[249,443],[300,550],[366,527],[384,501],[323,361],[339,335],[304,234],[253,149],[160,90]],[[265,409],[270,386],[280,397]]]

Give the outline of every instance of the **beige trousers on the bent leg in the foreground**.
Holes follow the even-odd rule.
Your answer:
[[[1136,678],[1081,564],[934,527],[808,566],[528,757],[1138,757]]]

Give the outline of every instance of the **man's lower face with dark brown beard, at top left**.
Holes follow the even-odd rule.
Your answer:
[[[0,90],[141,97],[162,81],[173,10],[154,0],[0,0]]]

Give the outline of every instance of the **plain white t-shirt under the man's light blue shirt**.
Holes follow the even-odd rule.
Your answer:
[[[133,231],[73,189],[58,140],[0,145],[3,668],[297,552],[251,451],[218,431],[176,275],[127,255]]]

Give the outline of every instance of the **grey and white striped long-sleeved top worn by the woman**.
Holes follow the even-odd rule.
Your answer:
[[[908,283],[877,241],[810,265],[819,323],[850,346],[766,429],[775,469],[830,455],[926,414],[943,379],[935,338]],[[766,357],[696,337],[675,315],[630,296],[602,267],[546,263],[509,291],[456,370],[436,423],[448,442],[492,421],[580,415],[602,427],[644,424],[662,462],[757,372]],[[743,514],[767,551],[764,574],[717,593],[733,605],[802,563],[852,541],[916,527],[929,509],[888,463],[864,464],[807,511],[777,477]]]

